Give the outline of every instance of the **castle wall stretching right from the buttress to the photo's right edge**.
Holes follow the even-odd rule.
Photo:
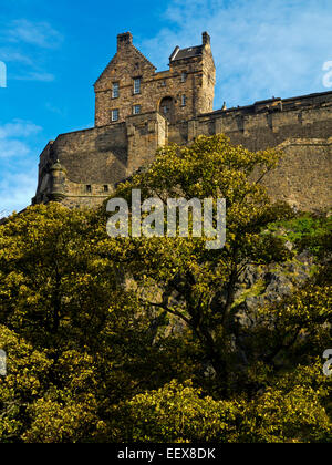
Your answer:
[[[190,143],[196,136],[225,133],[232,144],[256,152],[278,147],[280,165],[264,178],[276,199],[299,209],[331,207],[332,93],[215,112],[169,127],[169,142]],[[256,113],[259,112],[259,113]]]

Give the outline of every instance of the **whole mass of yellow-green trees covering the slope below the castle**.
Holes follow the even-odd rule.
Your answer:
[[[114,194],[225,197],[220,249],[110,238],[105,206],[34,206],[0,227],[0,442],[331,441],[331,220],[271,203],[260,182],[278,157],[199,137]],[[307,282],[240,322],[248,267],[300,251]]]

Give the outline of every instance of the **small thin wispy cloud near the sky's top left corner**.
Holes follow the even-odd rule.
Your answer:
[[[32,22],[27,19],[12,21],[7,31],[10,42],[24,42],[44,49],[53,49],[61,44],[60,32],[48,22]]]

